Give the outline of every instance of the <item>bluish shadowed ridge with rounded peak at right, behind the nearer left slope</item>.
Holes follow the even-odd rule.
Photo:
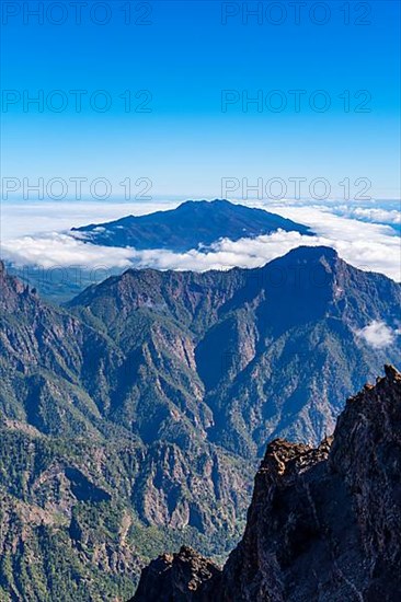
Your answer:
[[[344,397],[400,361],[400,285],[385,276],[331,248],[299,247],[260,269],[128,270],[69,309],[101,325],[129,358],[126,373],[144,371],[149,385],[151,369],[162,407],[172,402],[210,440],[254,458],[272,436],[316,443]],[[388,328],[388,345],[364,338],[371,324]],[[130,385],[119,389],[118,420],[131,420],[131,407]],[[159,417],[154,433],[169,428]],[[137,428],[144,436],[140,419]]]

